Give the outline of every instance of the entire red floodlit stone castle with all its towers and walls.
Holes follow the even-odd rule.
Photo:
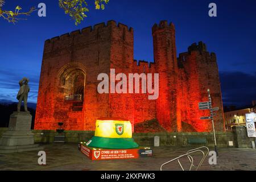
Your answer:
[[[44,44],[35,129],[94,130],[97,118],[122,117],[133,126],[156,119],[166,131],[212,131],[210,120],[200,120],[209,110],[198,102],[218,106],[215,129],[224,130],[220,80],[215,53],[203,42],[193,43],[176,56],[175,27],[161,21],[152,27],[154,63],[134,60],[133,28],[125,24],[96,24],[52,39]],[[148,94],[100,94],[100,73],[159,73],[159,97]],[[143,125],[141,125],[143,126]],[[143,131],[143,130],[142,130]]]

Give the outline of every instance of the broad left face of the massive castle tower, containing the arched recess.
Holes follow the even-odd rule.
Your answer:
[[[108,22],[46,40],[35,129],[94,130],[109,117],[109,95],[97,92],[100,73],[110,72],[113,26]]]

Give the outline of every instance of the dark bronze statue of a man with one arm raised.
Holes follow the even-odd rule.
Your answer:
[[[17,99],[19,100],[18,111],[20,111],[20,105],[22,101],[24,102],[24,110],[27,112],[27,96],[28,92],[30,92],[30,87],[28,86],[28,78],[24,77],[19,81],[19,92],[17,94]]]

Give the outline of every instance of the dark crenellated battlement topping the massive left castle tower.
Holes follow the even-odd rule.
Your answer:
[[[85,27],[82,28],[81,30],[75,30],[72,31],[70,33],[67,34],[63,34],[60,36],[55,36],[51,39],[47,39],[45,43],[51,43],[51,42],[55,42],[57,40],[66,40],[69,39],[72,36],[79,36],[79,35],[84,35],[84,36],[90,36],[90,34],[100,34],[100,32],[104,31],[105,28],[119,28],[120,31],[125,31],[127,33],[133,34],[133,28],[132,27],[128,27],[125,24],[122,23],[116,23],[114,20],[109,20],[106,24],[105,22],[102,23],[98,23],[98,24],[94,24],[94,26],[89,26],[89,27]],[[110,29],[111,31],[111,29]]]

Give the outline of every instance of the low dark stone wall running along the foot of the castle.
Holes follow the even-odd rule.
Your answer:
[[[0,128],[0,137],[2,133],[7,131],[7,128]],[[54,142],[54,137],[58,133],[54,130],[32,130],[34,133],[35,143],[52,143]],[[245,138],[241,138],[240,135],[245,134]],[[67,143],[77,143],[77,142],[87,142],[90,140],[94,131],[64,131],[65,142]],[[245,147],[251,148],[251,140],[253,138],[248,138],[245,133],[240,133],[237,135],[236,131],[217,131],[216,139],[218,147]],[[214,137],[213,133],[208,132],[192,132],[192,133],[135,133],[133,138],[140,146],[154,146],[154,137],[160,137],[160,146],[208,146],[214,147]],[[205,139],[206,143],[189,143],[189,139]],[[246,139],[246,140],[245,140]],[[233,142],[233,146],[229,145],[229,141]]]

